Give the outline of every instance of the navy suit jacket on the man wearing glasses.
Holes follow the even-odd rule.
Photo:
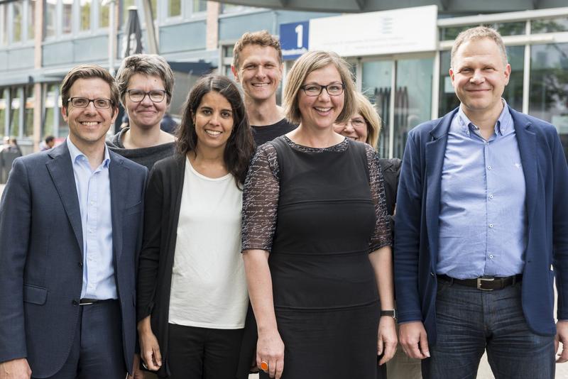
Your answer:
[[[124,361],[136,346],[136,266],[146,167],[110,154],[112,243]],[[0,202],[0,362],[27,358],[32,375],[60,370],[69,355],[83,278],[75,176],[67,148],[14,161]]]

